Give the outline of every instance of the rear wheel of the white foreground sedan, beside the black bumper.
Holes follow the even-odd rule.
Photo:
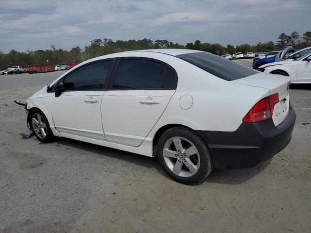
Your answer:
[[[213,169],[207,145],[198,134],[185,127],[164,132],[157,151],[164,171],[179,183],[200,183]]]

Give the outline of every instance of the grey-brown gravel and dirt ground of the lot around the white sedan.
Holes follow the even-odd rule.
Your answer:
[[[170,180],[153,158],[21,138],[26,113],[13,100],[61,73],[0,76],[0,232],[311,232],[310,86],[290,89],[297,120],[284,150],[189,186]]]

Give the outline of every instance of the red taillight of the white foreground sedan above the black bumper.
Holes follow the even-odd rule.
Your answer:
[[[278,94],[259,100],[244,116],[243,122],[259,122],[272,118],[274,106],[278,101]]]

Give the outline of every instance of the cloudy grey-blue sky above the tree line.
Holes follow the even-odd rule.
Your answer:
[[[311,31],[311,0],[0,0],[0,51],[93,39],[256,45]]]

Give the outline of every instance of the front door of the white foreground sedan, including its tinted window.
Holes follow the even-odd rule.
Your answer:
[[[64,78],[65,90],[51,101],[55,128],[61,135],[105,140],[101,103],[113,60],[87,64]]]

